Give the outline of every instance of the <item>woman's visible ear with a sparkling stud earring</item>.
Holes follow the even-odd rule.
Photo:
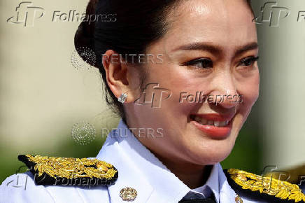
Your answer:
[[[102,63],[106,72],[106,81],[115,97],[119,98],[122,93],[127,94],[125,103],[134,102],[132,86],[134,80],[132,77],[132,67],[128,66],[127,62],[122,61],[120,55],[113,51],[107,50],[102,55]]]

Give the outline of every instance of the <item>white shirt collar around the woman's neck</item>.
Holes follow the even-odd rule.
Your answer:
[[[120,120],[118,130],[112,131],[108,135],[97,158],[113,164],[118,169],[118,181],[115,185],[108,187],[110,193],[111,190],[114,193],[113,195],[119,195],[120,189],[124,187],[133,186],[136,187],[138,196],[141,193],[144,194],[140,198],[137,197],[138,200],[146,202],[148,199],[157,201],[158,198],[162,198],[164,202],[178,202],[190,192],[190,188],[134,137],[123,120]],[[211,188],[217,202],[220,199],[219,167],[221,168],[219,163],[213,166],[204,185]],[[138,181],[134,179],[138,179]],[[120,198],[115,198],[115,200],[118,201]]]

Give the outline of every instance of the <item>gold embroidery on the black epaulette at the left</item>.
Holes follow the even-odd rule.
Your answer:
[[[38,176],[43,172],[51,177],[62,177],[66,179],[95,177],[98,179],[112,179],[117,170],[113,165],[97,159],[87,158],[54,158],[45,156],[26,155],[29,161],[34,162]]]

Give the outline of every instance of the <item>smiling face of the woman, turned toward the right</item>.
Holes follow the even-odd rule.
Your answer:
[[[191,0],[169,14],[168,31],[146,51],[162,55],[145,65],[145,85],[159,85],[146,95],[161,103],[125,106],[129,125],[155,132],[139,140],[161,160],[211,165],[232,151],[259,94],[252,20],[244,0]]]

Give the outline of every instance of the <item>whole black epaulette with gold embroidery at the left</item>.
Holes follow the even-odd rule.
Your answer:
[[[19,155],[37,185],[100,186],[114,184],[118,170],[97,159]]]

